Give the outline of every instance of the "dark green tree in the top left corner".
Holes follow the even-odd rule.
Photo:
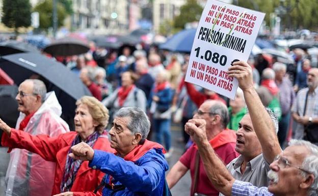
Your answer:
[[[29,0],[3,0],[2,22],[14,28],[31,25],[31,4]]]

